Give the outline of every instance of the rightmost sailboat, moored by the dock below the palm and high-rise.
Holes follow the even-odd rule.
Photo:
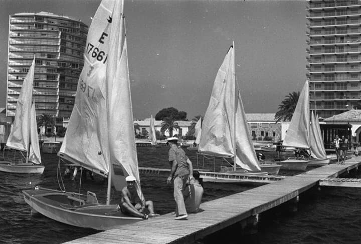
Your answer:
[[[310,149],[312,159],[293,159],[288,158],[286,160],[278,161],[277,163],[282,165],[282,169],[287,170],[300,170],[303,171],[306,169],[307,164],[310,161],[314,165],[327,164],[329,158],[326,157],[326,152],[323,147],[319,148],[319,144],[323,144],[323,140],[318,119],[314,118],[312,113],[311,119],[314,120],[310,123],[310,114],[309,114],[309,85],[308,80],[306,80],[298,102],[293,113],[292,119],[288,126],[285,138],[283,140],[283,146],[290,146],[296,148]],[[316,122],[317,121],[317,122]]]

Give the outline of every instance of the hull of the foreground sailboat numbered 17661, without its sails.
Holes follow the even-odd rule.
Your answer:
[[[37,212],[62,223],[107,230],[142,218],[124,215],[119,205],[87,204],[85,195],[51,189],[23,190],[24,200]]]

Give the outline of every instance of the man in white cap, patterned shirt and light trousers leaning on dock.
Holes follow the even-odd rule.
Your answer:
[[[167,138],[169,144],[169,164],[171,165],[167,183],[173,179],[173,196],[175,200],[175,220],[188,217],[186,204],[183,198],[183,189],[193,178],[193,165],[186,152],[177,146],[178,138]]]

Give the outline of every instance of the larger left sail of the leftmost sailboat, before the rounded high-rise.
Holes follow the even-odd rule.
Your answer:
[[[30,108],[32,105],[35,61],[29,68],[20,90],[15,111],[14,126],[12,127],[7,146],[10,148],[28,151],[30,136]]]

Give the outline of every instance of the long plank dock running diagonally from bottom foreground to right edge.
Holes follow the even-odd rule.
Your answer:
[[[259,213],[287,201],[297,201],[301,192],[318,185],[320,179],[337,177],[357,168],[361,158],[344,165],[328,164],[295,176],[201,204],[204,211],[174,220],[170,213],[75,239],[66,243],[193,243],[235,223],[257,220]]]

